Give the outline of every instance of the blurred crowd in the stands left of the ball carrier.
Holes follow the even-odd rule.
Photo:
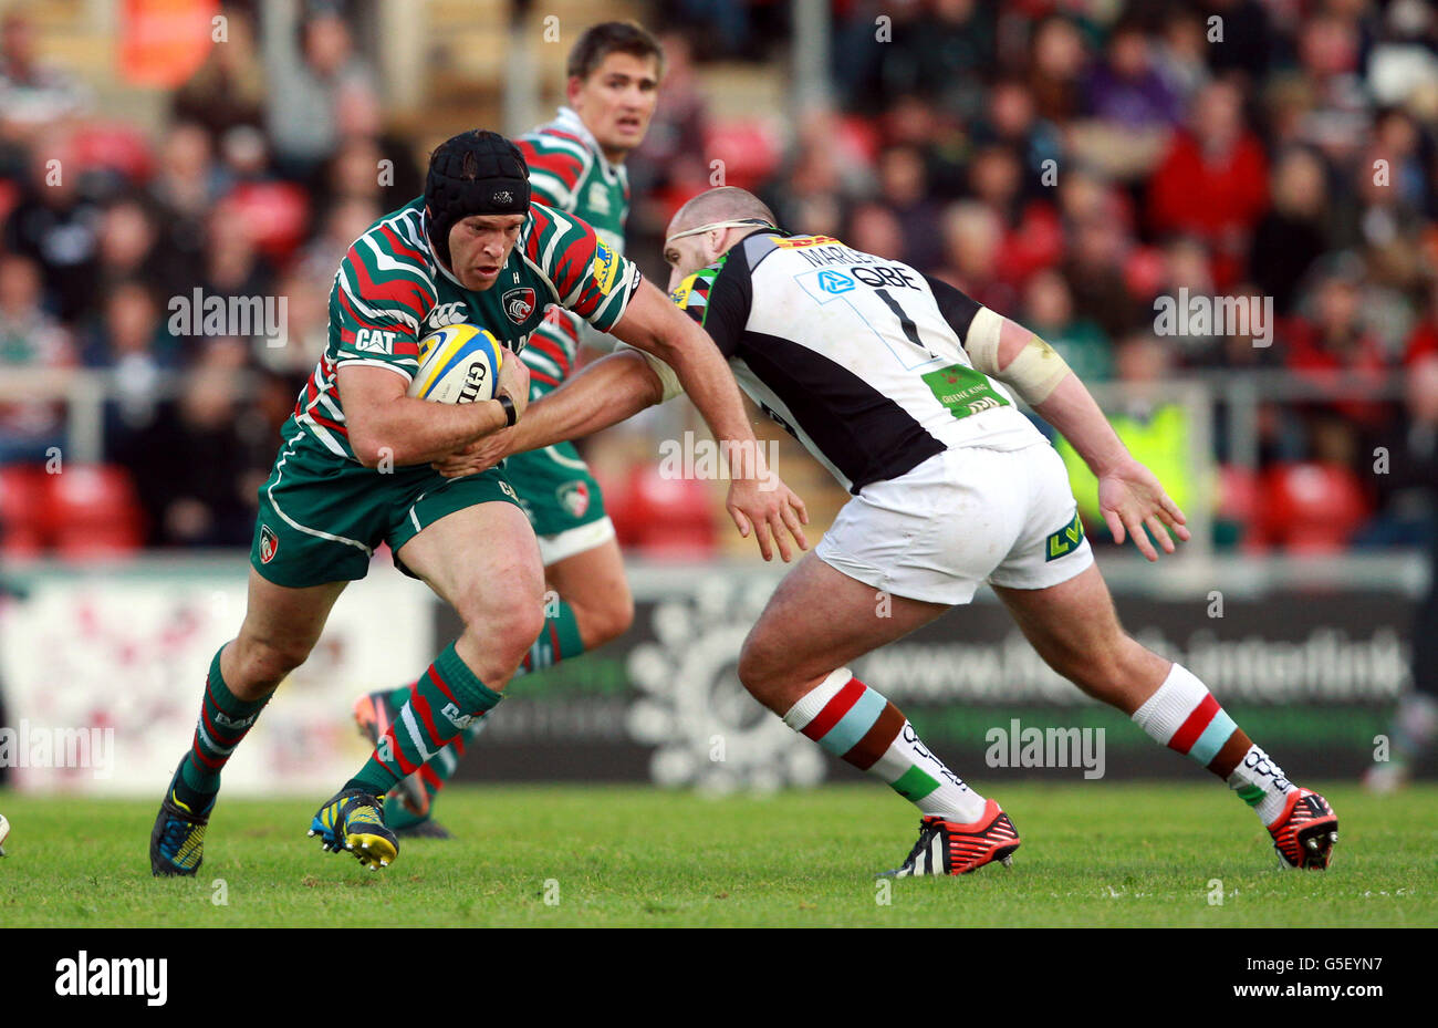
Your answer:
[[[335,269],[421,188],[341,7],[265,46],[256,10],[224,13],[227,39],[170,95],[158,138],[88,116],[23,13],[0,26],[0,367],[112,375],[104,459],[128,469],[150,545],[249,545]],[[194,290],[283,298],[285,336],[177,321]],[[0,403],[0,464],[65,444],[60,404]]]

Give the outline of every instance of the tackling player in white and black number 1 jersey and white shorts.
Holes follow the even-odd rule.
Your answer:
[[[1327,801],[1294,785],[1191,671],[1120,627],[1063,462],[1014,395],[1093,469],[1117,542],[1132,536],[1156,561],[1155,542],[1171,554],[1169,533],[1189,532],[1063,358],[900,262],[775,226],[758,198],[722,187],[684,204],[664,244],[672,299],[715,339],[741,388],[853,493],[769,600],[739,679],[789,728],[919,807],[919,841],[896,874],[963,874],[1008,863],[1020,845],[999,805],[846,667],[969,602],[984,582],[1050,667],[1224,779],[1284,866],[1327,867],[1337,841]],[[621,351],[440,470],[472,473],[679,391],[661,361]]]

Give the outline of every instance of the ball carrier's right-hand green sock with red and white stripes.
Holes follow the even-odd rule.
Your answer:
[[[345,785],[383,797],[406,775],[489,713],[500,694],[485,686],[460,660],[454,644],[434,658],[410,690],[394,723],[380,736],[370,761]]]

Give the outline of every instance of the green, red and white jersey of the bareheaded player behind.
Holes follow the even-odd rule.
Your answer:
[[[529,164],[529,190],[535,201],[578,214],[594,226],[615,253],[624,253],[624,220],[628,217],[628,174],[611,164],[594,135],[574,111],[559,108],[554,121],[515,139]],[[584,328],[558,308],[549,311],[525,349],[531,397],[558,388],[574,370]]]

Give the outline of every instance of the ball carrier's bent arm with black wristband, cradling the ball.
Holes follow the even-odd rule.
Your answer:
[[[344,397],[349,446],[365,467],[426,464],[499,431],[508,421],[495,400],[436,404],[407,397],[404,378],[385,368],[341,362],[335,377]],[[522,361],[503,361],[500,390],[509,393],[523,414],[529,371]]]

